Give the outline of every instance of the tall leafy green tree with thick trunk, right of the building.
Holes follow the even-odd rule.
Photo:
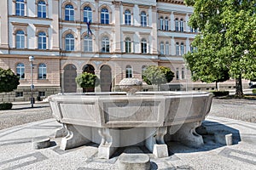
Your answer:
[[[242,96],[241,78],[256,77],[256,1],[185,3],[194,7],[189,26],[201,32],[192,43],[197,50],[184,56],[192,79],[217,82],[218,76],[228,71],[229,77],[236,78],[236,95]]]

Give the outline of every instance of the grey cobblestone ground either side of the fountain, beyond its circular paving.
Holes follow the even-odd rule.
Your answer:
[[[213,99],[209,116],[221,116],[246,122],[256,122],[256,100]],[[0,130],[27,122],[52,118],[48,103],[15,104],[12,110],[0,111]]]

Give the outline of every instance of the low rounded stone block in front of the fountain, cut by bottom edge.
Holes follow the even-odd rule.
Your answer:
[[[145,154],[122,154],[119,156],[119,170],[149,170],[150,159]]]

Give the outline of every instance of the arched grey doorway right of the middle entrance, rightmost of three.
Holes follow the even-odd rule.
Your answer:
[[[111,92],[112,74],[111,74],[110,66],[102,65],[100,81],[101,81],[101,91],[102,92]]]

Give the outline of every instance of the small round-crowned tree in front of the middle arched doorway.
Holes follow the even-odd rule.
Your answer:
[[[83,72],[76,77],[76,82],[80,88],[85,88],[85,91],[87,92],[88,88],[94,88],[99,85],[99,78],[92,73]]]

